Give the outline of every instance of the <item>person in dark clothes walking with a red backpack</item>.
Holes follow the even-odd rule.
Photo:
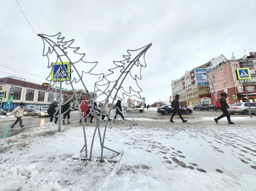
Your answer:
[[[218,120],[220,120],[221,118],[225,118],[227,117],[227,121],[228,124],[234,124],[231,119],[230,119],[230,114],[227,111],[227,109],[229,108],[228,104],[227,104],[227,93],[226,92],[221,92],[220,93],[220,97],[216,102],[216,109],[220,109],[223,114],[217,118],[214,118],[215,122],[218,123]]]

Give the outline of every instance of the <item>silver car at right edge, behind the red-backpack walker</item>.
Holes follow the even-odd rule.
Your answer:
[[[256,103],[249,103],[249,104],[251,107],[251,113],[256,113]],[[249,113],[248,102],[234,103],[231,106],[229,106],[228,111],[230,114],[242,113],[244,115],[247,115]]]

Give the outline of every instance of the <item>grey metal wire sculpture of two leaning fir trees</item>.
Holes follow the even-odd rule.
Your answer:
[[[61,62],[62,66],[63,66],[62,67],[63,72],[65,73],[65,75],[62,75],[61,77],[58,76],[58,74],[56,76],[53,76],[50,74],[46,78],[46,80],[48,80],[50,82],[50,87],[46,91],[47,92],[54,91],[51,89],[51,87],[55,83],[58,83],[60,81],[65,82],[66,85],[71,85],[73,94],[71,95],[70,99],[67,102],[69,102],[72,98],[75,98],[75,101],[73,101],[73,104],[70,106],[70,108],[71,107],[78,108],[79,116],[80,116],[80,119],[82,120],[82,127],[83,127],[83,132],[84,132],[84,137],[85,137],[85,145],[82,148],[81,152],[83,150],[85,150],[84,160],[92,159],[92,149],[93,149],[93,144],[94,144],[94,138],[95,138],[96,132],[98,130],[100,144],[101,144],[101,158],[99,160],[104,161],[104,159],[103,159],[104,149],[114,151],[113,149],[109,149],[108,147],[104,146],[107,127],[109,127],[109,128],[116,127],[113,123],[110,123],[110,126],[108,126],[109,117],[111,116],[111,112],[113,112],[113,111],[116,112],[116,110],[119,110],[119,108],[115,108],[115,110],[112,109],[114,101],[117,98],[124,99],[124,95],[126,95],[129,97],[133,96],[133,97],[138,98],[138,100],[135,100],[135,101],[144,102],[144,100],[142,100],[142,97],[140,96],[140,92],[142,91],[142,89],[138,86],[137,80],[142,79],[141,69],[142,69],[142,67],[147,66],[145,63],[145,53],[151,47],[152,44],[149,44],[149,45],[142,47],[138,50],[128,50],[127,51],[128,55],[123,56],[125,59],[121,60],[121,61],[114,61],[114,64],[116,66],[114,68],[109,69],[108,70],[109,73],[105,75],[104,73],[99,73],[99,74],[92,73],[92,70],[95,68],[95,66],[98,64],[98,62],[84,61],[83,59],[85,57],[85,54],[84,53],[81,54],[81,53],[77,52],[80,49],[80,47],[71,47],[74,40],[64,41],[65,38],[61,37],[61,33],[58,33],[58,34],[52,35],[52,36],[45,35],[45,34],[38,34],[38,36],[41,37],[43,40],[43,56],[47,57],[47,59],[48,59],[48,68],[52,68],[52,70],[53,70],[56,63]],[[72,60],[70,59],[71,56],[72,56]],[[50,60],[55,61],[55,62],[51,62]],[[67,68],[65,67],[64,61],[69,61],[70,68],[72,68],[70,71],[68,71]],[[85,68],[87,68],[87,71],[81,71],[81,73],[79,73],[79,71],[77,70],[75,65],[80,64],[80,63],[87,64],[87,66],[85,67]],[[115,72],[120,73],[120,75],[117,79],[113,79],[113,78],[115,78],[113,75]],[[51,71],[51,73],[52,73],[52,71]],[[75,73],[78,76],[78,79],[77,78],[71,79],[71,73]],[[96,99],[98,99],[97,102],[99,102],[99,103],[104,102],[103,109],[101,109],[101,112],[99,112],[99,110],[97,109],[98,107],[92,107],[92,109],[90,111],[90,114],[92,116],[94,116],[94,118],[96,119],[96,127],[95,127],[93,138],[92,138],[92,144],[91,144],[89,158],[88,158],[88,149],[87,149],[87,138],[86,138],[86,132],[85,132],[85,123],[83,121],[84,113],[80,109],[80,106],[81,106],[81,104],[83,104],[83,101],[81,103],[79,103],[79,101],[78,101],[78,99],[82,95],[82,92],[78,96],[76,94],[75,88],[74,88],[74,83],[78,83],[81,81],[82,85],[84,87],[85,93],[89,93],[89,91],[87,90],[87,87],[85,86],[85,83],[83,82],[83,79],[82,79],[84,74],[100,75],[101,76],[101,77],[99,77],[99,78],[101,78],[101,80],[99,80],[98,82],[96,82],[94,84],[94,91],[90,91],[91,94],[97,94],[97,97],[90,97],[89,101],[91,104],[93,104],[96,101]],[[65,79],[64,79],[64,76],[65,76]],[[53,83],[53,81],[57,81],[57,82]],[[130,86],[128,89],[126,89],[125,87],[123,87],[123,83],[125,83],[125,81],[128,81],[127,83],[129,83],[129,84],[133,82],[134,85]],[[119,96],[117,96],[119,90],[121,90],[122,93],[119,94]],[[113,101],[111,102],[111,105],[108,106],[107,101],[110,98],[113,99]],[[101,100],[99,101],[99,99],[101,99]],[[60,103],[58,107],[60,107],[63,104],[63,100],[60,97],[60,99],[58,101]],[[106,111],[106,108],[108,108],[107,113],[104,112],[104,111]],[[56,111],[56,113],[57,113],[57,111]],[[60,111],[61,111],[61,108],[60,108]],[[56,113],[55,113],[55,115],[56,115]],[[60,118],[60,116],[63,114],[64,113],[60,112],[58,117]],[[101,120],[101,116],[104,116],[104,115],[107,116],[106,122]],[[130,111],[129,111],[128,115],[131,115]],[[120,117],[120,115],[117,115],[117,119],[118,118],[123,120]],[[135,123],[133,123],[133,124],[127,123],[124,120],[123,120],[123,122],[126,123],[127,125],[129,125],[130,128],[132,125],[137,125],[137,123],[135,122],[134,119],[133,119],[133,122],[135,122]],[[101,132],[100,132],[101,125],[104,126],[103,138],[101,138]],[[123,128],[123,129],[130,129],[130,128]],[[120,129],[122,129],[122,128],[120,128]],[[119,153],[118,151],[114,151],[114,152]],[[119,154],[121,154],[121,153],[119,153]]]

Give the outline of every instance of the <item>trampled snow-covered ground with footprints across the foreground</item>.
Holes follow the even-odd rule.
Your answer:
[[[71,159],[85,155],[77,123],[62,132],[53,124],[31,128],[0,139],[0,191],[255,191],[255,122],[140,118],[131,130],[107,129],[105,146],[123,152],[119,163]],[[86,126],[88,148],[93,132],[92,124]],[[93,158],[99,156],[97,137]],[[109,150],[104,156],[120,157]]]

